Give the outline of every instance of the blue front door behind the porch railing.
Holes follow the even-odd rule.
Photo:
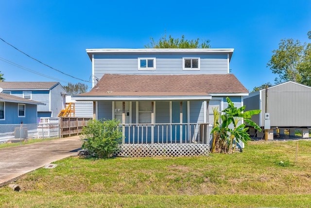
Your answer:
[[[187,131],[187,124],[179,124],[174,125],[176,123],[187,123],[187,101],[182,101],[182,113],[183,119],[180,122],[180,101],[173,101],[172,102],[172,142],[180,143],[180,138],[182,141],[185,141],[186,138],[186,131]]]

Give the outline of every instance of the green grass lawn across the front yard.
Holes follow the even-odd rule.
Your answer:
[[[0,207],[311,207],[311,140],[209,157],[70,157],[0,188]]]

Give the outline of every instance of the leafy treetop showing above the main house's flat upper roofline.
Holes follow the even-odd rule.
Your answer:
[[[185,39],[183,35],[181,39],[173,38],[171,35],[167,38],[166,33],[157,42],[154,38],[150,38],[150,44],[145,45],[145,48],[210,48],[210,40],[196,40]]]

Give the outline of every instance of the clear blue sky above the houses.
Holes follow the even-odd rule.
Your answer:
[[[310,0],[0,1],[0,38],[70,75],[0,40],[5,81],[87,81],[92,69],[86,49],[144,48],[166,31],[174,38],[209,39],[212,48],[234,48],[230,69],[252,90],[274,84],[276,75],[266,66],[280,39],[311,42]]]

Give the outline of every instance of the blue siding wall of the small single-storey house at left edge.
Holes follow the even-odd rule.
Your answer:
[[[5,120],[0,120],[0,124],[36,124],[36,105],[25,105],[25,117],[18,117],[18,103],[5,102]]]

